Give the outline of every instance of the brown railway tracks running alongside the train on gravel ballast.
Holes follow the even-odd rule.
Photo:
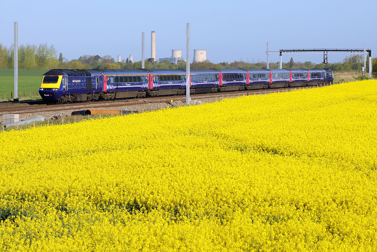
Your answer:
[[[303,88],[313,88],[311,87],[290,87],[290,88],[274,88],[268,90],[247,90],[247,91],[233,91],[227,93],[209,93],[209,94],[191,94],[192,99],[217,99],[217,98],[228,98],[236,97],[242,95],[254,95],[254,94],[268,94],[268,93],[277,93],[285,92],[290,90],[298,90]],[[145,104],[158,104],[166,103],[173,100],[185,101],[186,96],[165,96],[165,97],[148,97],[141,99],[119,99],[119,100],[106,100],[106,101],[95,101],[95,102],[78,102],[78,103],[69,103],[69,104],[36,104],[36,105],[18,105],[12,107],[0,107],[0,114],[26,114],[26,113],[36,113],[36,112],[51,112],[51,111],[65,111],[65,110],[82,110],[88,108],[111,108],[111,107],[120,107],[120,106],[131,106],[131,105],[145,105]],[[24,103],[24,102],[23,102]],[[25,102],[27,103],[27,102]],[[14,103],[13,103],[14,104]]]

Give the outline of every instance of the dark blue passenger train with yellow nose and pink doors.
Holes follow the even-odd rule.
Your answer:
[[[330,69],[192,69],[190,94],[332,84]],[[183,95],[184,69],[52,69],[39,94],[46,104]]]

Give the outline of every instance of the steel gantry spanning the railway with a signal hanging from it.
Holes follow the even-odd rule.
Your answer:
[[[269,51],[267,42],[267,68],[270,54],[279,54],[279,69],[282,68],[283,54],[323,54],[323,63],[327,63],[327,54],[364,54],[364,75],[366,76],[366,56],[369,55],[369,78],[372,78],[372,50],[366,49],[280,49],[279,51]]]

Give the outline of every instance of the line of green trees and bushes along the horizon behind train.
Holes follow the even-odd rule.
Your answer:
[[[369,61],[369,59],[367,59]],[[346,57],[343,62],[327,63],[327,65],[320,63],[316,64],[310,61],[294,62],[293,58],[289,62],[282,63],[283,68],[329,68],[333,71],[354,71],[361,70],[363,63],[362,55],[351,55]],[[14,67],[14,48],[13,45],[7,48],[0,43],[0,68]],[[269,63],[269,68],[278,68],[279,62]],[[132,62],[128,58],[122,62],[115,62],[114,58],[109,55],[83,55],[78,59],[67,60],[60,53],[57,57],[57,51],[54,45],[48,46],[47,43],[36,45],[20,45],[18,47],[18,68],[19,69],[138,69],[141,68],[141,61]],[[170,63],[169,60],[162,62],[155,62],[152,58],[145,61],[146,69],[186,69],[186,62],[178,60],[178,64]],[[234,61],[231,63],[221,62],[212,63],[209,60],[204,62],[193,62],[190,64],[192,69],[257,69],[267,68],[266,62],[248,63],[244,61]],[[366,71],[369,71],[369,62],[366,64]],[[377,77],[377,58],[373,59],[373,75]]]

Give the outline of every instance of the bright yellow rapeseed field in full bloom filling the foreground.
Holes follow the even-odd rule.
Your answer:
[[[2,251],[376,251],[377,81],[0,134]]]

